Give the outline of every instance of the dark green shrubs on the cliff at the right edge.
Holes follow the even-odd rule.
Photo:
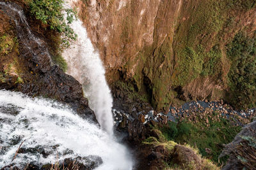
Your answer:
[[[227,45],[232,64],[228,73],[230,103],[237,108],[252,108],[256,103],[256,39],[239,32]]]

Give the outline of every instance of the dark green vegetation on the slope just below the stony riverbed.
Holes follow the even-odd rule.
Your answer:
[[[208,119],[209,124],[205,124],[205,120],[200,119],[198,119],[198,123],[193,124],[185,119],[177,123],[168,122],[167,125],[159,129],[167,141],[188,143],[198,148],[203,157],[216,163],[226,162],[227,157],[219,160],[219,155],[223,149],[222,145],[230,143],[241,131],[241,127],[233,125],[230,120],[225,118],[220,118],[220,121],[214,117]]]

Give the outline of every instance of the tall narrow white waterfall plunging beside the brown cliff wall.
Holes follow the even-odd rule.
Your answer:
[[[73,1],[69,0],[69,3],[72,6]],[[76,78],[83,85],[84,94],[88,98],[90,108],[95,112],[100,126],[112,136],[113,99],[99,53],[93,48],[81,20],[72,22],[70,26],[78,37],[76,43],[62,53],[68,64],[67,74]]]

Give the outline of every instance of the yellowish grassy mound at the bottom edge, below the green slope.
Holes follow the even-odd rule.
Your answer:
[[[220,169],[208,159],[202,158],[199,151],[190,145],[178,145],[172,140],[164,138],[164,134],[154,127],[152,131],[157,131],[158,137],[145,139],[143,144],[150,145],[152,148],[163,148],[165,158],[163,164],[164,169]],[[156,132],[154,132],[156,134]],[[162,153],[162,154],[163,154]]]

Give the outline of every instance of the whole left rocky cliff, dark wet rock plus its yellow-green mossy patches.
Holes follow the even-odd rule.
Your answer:
[[[36,32],[36,27],[29,27],[33,24],[23,15],[25,7],[0,3],[0,89],[56,99],[70,105],[82,117],[97,122],[88,100],[83,97],[81,84],[59,66],[52,66],[47,38],[35,36],[40,31],[47,35],[47,30]],[[33,20],[30,18],[29,22]]]

